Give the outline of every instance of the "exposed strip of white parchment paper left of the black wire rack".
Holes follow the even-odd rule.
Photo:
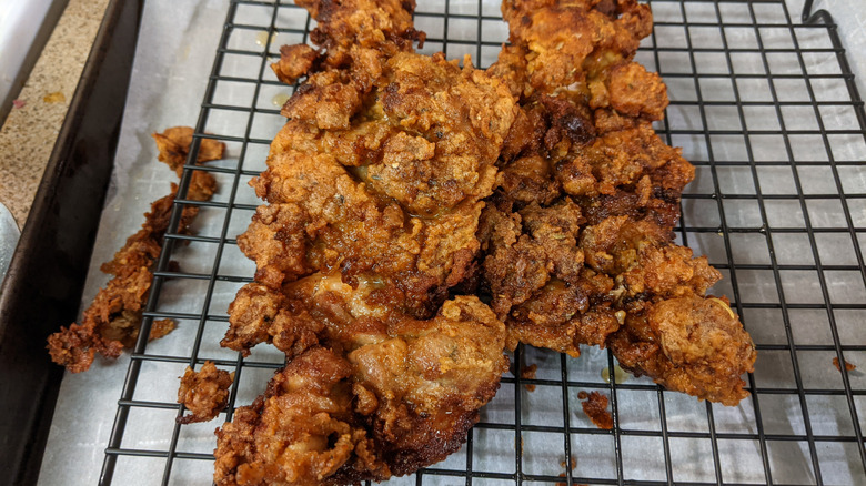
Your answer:
[[[157,162],[150,134],[195,124],[226,9],[220,0],[144,2],[115,170],[83,305],[108,281],[99,272],[102,262],[111,260],[140,229],[150,203],[170,192],[170,182],[177,182],[173,172]],[[39,484],[97,484],[128,365],[124,354],[115,362],[98,358],[87,373],[64,375]]]

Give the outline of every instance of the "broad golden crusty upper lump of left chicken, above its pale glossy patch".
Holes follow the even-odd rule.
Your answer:
[[[238,242],[264,285],[336,267],[426,317],[469,276],[516,109],[501,82],[442,54],[373,64],[315,73],[286,102],[252,183],[269,205]]]

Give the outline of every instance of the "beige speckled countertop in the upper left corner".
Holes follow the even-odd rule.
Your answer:
[[[42,179],[109,0],[69,0],[0,129],[0,202],[19,226]],[[60,94],[58,94],[60,93]]]

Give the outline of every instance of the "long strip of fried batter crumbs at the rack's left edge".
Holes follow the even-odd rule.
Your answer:
[[[192,143],[192,129],[174,126],[153,135],[159,149],[159,160],[180,174]],[[198,154],[198,162],[222,159],[225,144],[204,139]],[[216,189],[216,180],[208,172],[194,171],[190,180],[187,198],[194,201],[208,201]],[[110,262],[102,264],[103,273],[113,275],[105,287],[101,288],[93,302],[82,314],[81,323],[48,337],[48,351],[51,360],[63,365],[72,373],[88,371],[99,353],[108,358],[120,356],[124,347],[131,348],[139,336],[142,311],[150,293],[153,267],[162,240],[169,229],[171,210],[178,193],[178,185],[171,183],[171,192],[154,201],[150,212],[144,213],[144,223],[135,234],[114,254]],[[199,207],[187,206],[181,213],[179,232],[185,233]],[[175,326],[172,320],[153,321],[151,340],[162,337]]]

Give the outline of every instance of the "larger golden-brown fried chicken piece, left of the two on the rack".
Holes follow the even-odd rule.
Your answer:
[[[505,326],[476,296],[476,230],[517,113],[508,88],[412,52],[412,2],[301,1],[323,48],[252,185],[239,247],[254,282],[221,344],[285,353],[264,396],[218,431],[218,485],[383,480],[465,441],[507,369]]]

